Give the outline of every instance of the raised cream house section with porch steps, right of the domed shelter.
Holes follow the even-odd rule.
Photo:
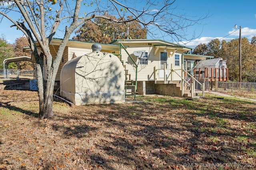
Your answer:
[[[184,89],[180,87],[184,84],[181,68],[194,75],[193,68],[199,61],[213,58],[189,54],[191,48],[160,39],[126,39],[110,44],[123,47],[120,54],[128,72],[126,74],[128,79],[135,80],[137,84],[137,89],[131,88],[129,92],[143,95],[158,93],[184,96]],[[187,90],[191,92],[189,88]]]

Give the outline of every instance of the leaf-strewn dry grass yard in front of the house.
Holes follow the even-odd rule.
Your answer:
[[[137,99],[144,102],[55,99],[56,116],[40,120],[36,92],[0,90],[0,170],[255,169],[255,102],[210,94]]]

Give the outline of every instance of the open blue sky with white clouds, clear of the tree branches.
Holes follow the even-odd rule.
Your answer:
[[[195,33],[198,38],[184,42],[188,47],[194,48],[199,43],[208,43],[216,38],[226,41],[238,38],[239,30],[235,31],[235,24],[242,27],[242,37],[250,41],[256,36],[256,0],[176,0],[176,5],[181,13],[188,16],[208,15],[200,24],[189,27],[189,36]],[[23,33],[16,27],[10,28],[10,25],[7,19],[2,20],[0,35],[4,34],[9,43],[14,43]],[[163,40],[170,41],[170,38],[167,36]]]

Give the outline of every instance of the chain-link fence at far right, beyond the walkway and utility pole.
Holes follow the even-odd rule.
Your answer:
[[[217,82],[218,92],[256,92],[256,83],[252,82]]]

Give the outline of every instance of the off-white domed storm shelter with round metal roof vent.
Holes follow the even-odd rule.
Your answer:
[[[60,73],[60,95],[75,105],[123,103],[124,67],[111,53],[92,52],[68,61]]]

